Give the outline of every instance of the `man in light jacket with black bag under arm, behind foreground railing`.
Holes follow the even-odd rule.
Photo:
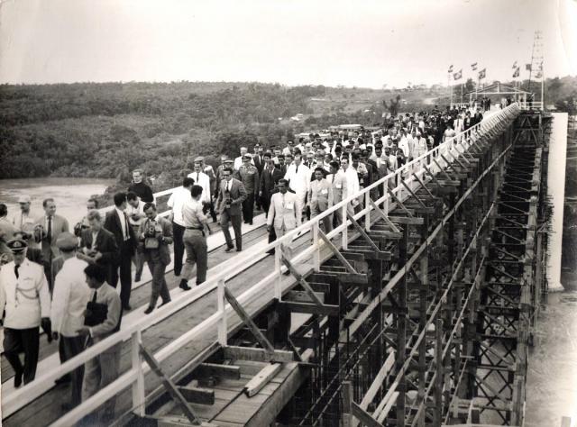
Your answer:
[[[122,308],[121,298],[112,286],[105,283],[106,273],[103,268],[90,264],[84,269],[84,274],[90,288],[90,310],[87,311],[85,325],[77,332],[88,339],[90,347],[120,330]],[[83,401],[118,378],[121,345],[116,344],[87,361],[82,388]],[[114,420],[115,404],[115,397],[102,404],[96,413],[87,416],[87,425],[107,425]]]

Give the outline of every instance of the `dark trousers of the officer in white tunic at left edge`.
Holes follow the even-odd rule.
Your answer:
[[[22,374],[24,384],[28,384],[36,376],[38,365],[39,329],[4,329],[4,354],[16,375]],[[24,365],[20,353],[24,353]]]

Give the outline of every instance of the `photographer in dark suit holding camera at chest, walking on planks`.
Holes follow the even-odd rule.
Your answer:
[[[156,307],[159,295],[162,298],[160,306],[170,302],[169,286],[164,275],[166,266],[170,263],[169,244],[172,243],[172,225],[167,219],[158,216],[155,204],[144,204],[144,213],[146,220],[141,224],[138,240],[142,259],[148,264],[152,275],[151,302],[144,312],[149,314]]]

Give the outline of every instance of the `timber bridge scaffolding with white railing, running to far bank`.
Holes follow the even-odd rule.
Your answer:
[[[512,104],[354,195],[359,212],[351,196],[224,265],[3,398],[4,422],[68,426],[114,397],[133,425],[522,425],[546,290],[542,115]],[[348,221],[325,234],[336,210]],[[162,324],[164,345],[147,341]],[[113,345],[114,383],[33,418],[39,381]]]

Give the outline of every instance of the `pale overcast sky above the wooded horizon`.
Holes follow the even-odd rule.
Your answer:
[[[262,81],[407,86],[511,77],[543,32],[577,74],[575,0],[3,0],[0,82]],[[527,77],[521,68],[521,77]]]

